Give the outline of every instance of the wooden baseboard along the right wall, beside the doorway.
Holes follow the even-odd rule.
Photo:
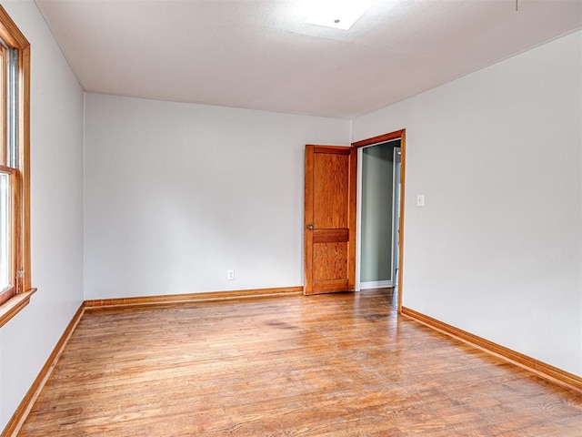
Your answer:
[[[433,319],[432,317],[426,316],[425,314],[415,310],[402,307],[401,314],[409,319],[416,320],[417,322],[422,323],[423,325],[426,325],[433,330],[438,330],[439,332],[447,334],[450,337],[470,344],[471,346],[474,346],[481,351],[486,351],[498,358],[501,358],[504,361],[516,364],[517,366],[526,369],[527,371],[532,371],[533,373],[536,373],[538,376],[548,381],[555,382],[559,385],[567,387],[568,389],[582,392],[582,378],[573,373],[563,371],[543,361],[538,361],[534,358],[524,355],[523,353],[513,351],[506,348],[505,346],[494,343],[493,341],[478,337],[477,335],[471,334],[466,330],[460,330],[452,325],[437,319]]]

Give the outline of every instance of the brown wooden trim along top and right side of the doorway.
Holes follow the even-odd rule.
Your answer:
[[[406,129],[396,130],[394,132],[390,132],[388,134],[379,135],[377,137],[371,137],[367,139],[363,139],[361,141],[356,141],[352,143],[352,147],[360,148],[366,146],[373,146],[376,144],[386,143],[386,141],[394,140],[400,138],[400,219],[398,223],[398,227],[400,229],[399,241],[400,245],[398,246],[398,314],[402,314],[402,290],[403,290],[403,281],[402,281],[402,273],[404,271],[404,205],[405,205],[405,179],[406,179]],[[361,180],[358,180],[358,184],[361,183]],[[359,201],[359,199],[358,199]],[[358,234],[356,237],[359,241],[360,235]],[[356,245],[359,247],[359,243]],[[359,254],[357,255],[358,258],[358,266],[359,266]],[[359,269],[359,267],[358,267]]]

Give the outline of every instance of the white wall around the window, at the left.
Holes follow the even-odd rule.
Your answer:
[[[3,1],[31,43],[30,304],[0,329],[4,429],[83,300],[83,92],[32,1]]]

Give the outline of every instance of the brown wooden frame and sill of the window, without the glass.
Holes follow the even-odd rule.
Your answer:
[[[30,43],[15,25],[5,8],[0,5],[0,38],[6,46],[17,53],[16,66],[16,149],[17,159],[12,174],[14,183],[14,227],[13,227],[13,263],[15,269],[15,294],[0,305],[0,327],[25,308],[30,297],[36,291],[31,285],[30,262]],[[6,75],[2,75],[5,87]],[[4,88],[5,89],[5,88]],[[4,93],[4,95],[6,95]],[[5,107],[2,114],[5,114]],[[2,116],[2,137],[5,137],[5,116]],[[8,149],[2,140],[3,157]],[[5,158],[3,161],[5,162]],[[8,168],[6,164],[4,169]]]

